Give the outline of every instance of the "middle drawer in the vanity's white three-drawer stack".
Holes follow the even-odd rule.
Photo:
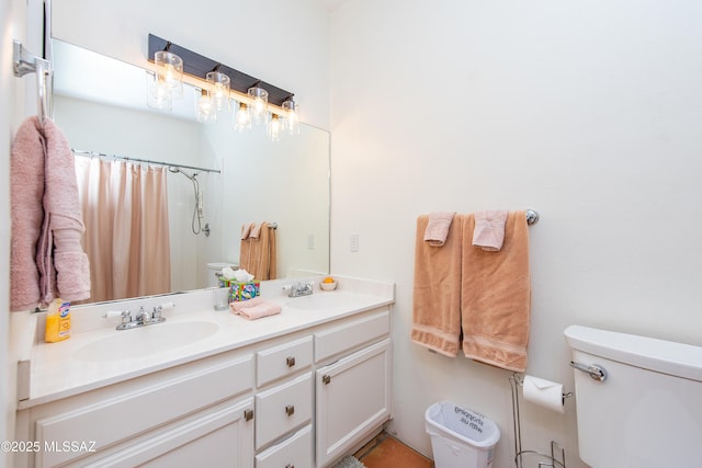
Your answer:
[[[312,373],[256,396],[256,449],[312,421]]]

